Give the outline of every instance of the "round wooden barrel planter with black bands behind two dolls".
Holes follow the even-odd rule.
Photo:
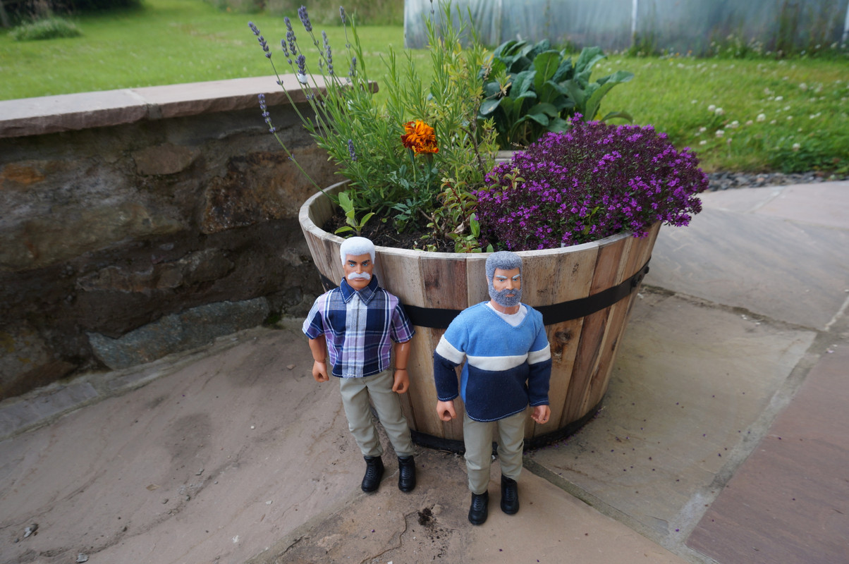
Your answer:
[[[344,183],[328,191],[338,191]],[[301,206],[307,244],[329,290],[343,276],[342,238],[323,231],[333,203],[319,192]],[[552,352],[551,418],[545,425],[528,410],[526,446],[567,437],[598,411],[637,290],[648,272],[660,223],[644,238],[617,234],[583,245],[520,251],[522,302],[543,313]],[[463,449],[463,405],[450,422],[436,415],[433,351],[451,319],[464,308],[489,300],[486,253],[440,253],[378,246],[374,273],[398,296],[415,326],[408,363],[410,389],[402,405],[413,440],[423,446]]]

